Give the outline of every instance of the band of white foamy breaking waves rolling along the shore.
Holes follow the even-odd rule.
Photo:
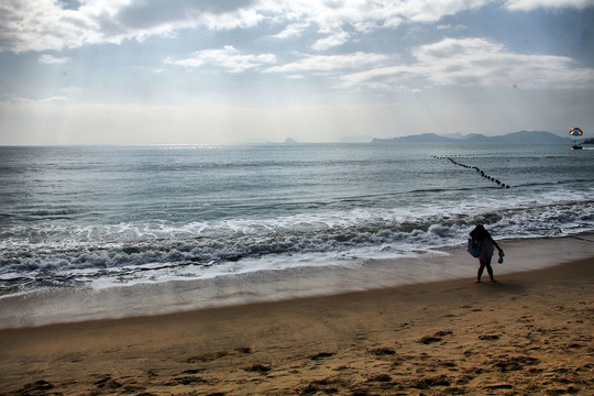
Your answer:
[[[35,226],[32,233],[31,228],[16,227],[11,237],[0,239],[0,282],[11,289],[19,284],[105,287],[330,262],[346,265],[362,257],[406,256],[458,245],[477,222],[488,224],[497,238],[560,237],[594,229],[591,193],[550,190],[530,199],[521,191],[471,194],[455,204],[183,224],[51,224]]]

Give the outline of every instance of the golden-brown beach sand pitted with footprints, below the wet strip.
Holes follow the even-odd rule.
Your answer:
[[[499,280],[0,330],[0,393],[593,395],[594,257]]]

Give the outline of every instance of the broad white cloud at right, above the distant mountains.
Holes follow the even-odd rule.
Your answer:
[[[413,50],[411,65],[375,68],[342,77],[343,87],[372,88],[410,84],[441,86],[505,86],[530,89],[594,87],[594,69],[579,68],[564,56],[515,54],[484,38],[446,38]],[[417,87],[418,88],[418,87]]]

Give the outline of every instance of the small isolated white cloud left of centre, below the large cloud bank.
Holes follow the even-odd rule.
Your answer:
[[[222,67],[231,73],[241,73],[250,69],[258,69],[264,65],[273,64],[276,57],[273,54],[242,54],[231,45],[226,45],[220,50],[205,50],[193,54],[185,59],[165,59],[166,64],[200,67],[206,64]]]

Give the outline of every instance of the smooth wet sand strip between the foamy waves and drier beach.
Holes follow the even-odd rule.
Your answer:
[[[594,233],[561,238],[502,240],[503,265],[495,276],[539,270],[592,256]],[[0,298],[0,328],[157,316],[254,302],[331,296],[409,284],[473,277],[477,261],[465,246],[418,257],[371,258],[348,265],[296,267],[209,279],[139,284],[105,289],[55,288]],[[486,277],[486,273],[483,274]]]

